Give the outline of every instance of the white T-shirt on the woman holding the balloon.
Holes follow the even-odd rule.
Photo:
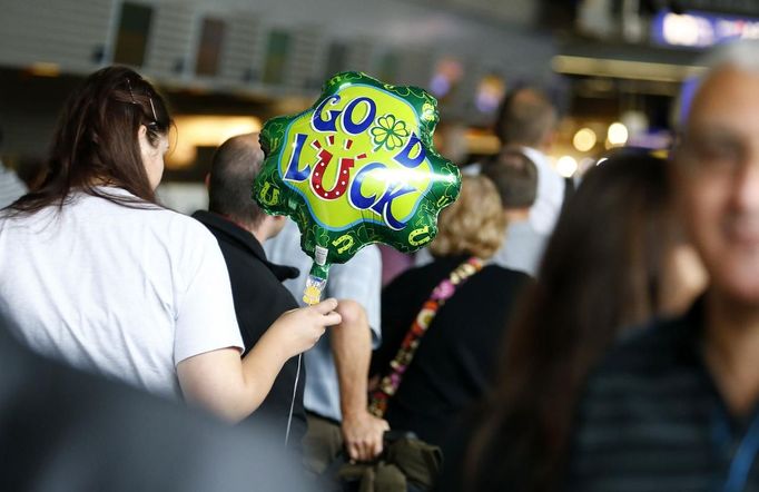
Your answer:
[[[47,356],[174,397],[179,362],[243,347],[224,257],[200,223],[81,193],[60,214],[0,217],[0,323]]]

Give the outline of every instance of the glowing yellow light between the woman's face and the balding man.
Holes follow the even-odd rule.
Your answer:
[[[176,146],[166,156],[170,169],[191,166],[198,147],[218,147],[236,135],[259,131],[260,119],[254,116],[177,115]]]

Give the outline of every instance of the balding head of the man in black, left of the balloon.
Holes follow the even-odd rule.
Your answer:
[[[264,211],[253,200],[250,189],[263,161],[258,134],[238,135],[221,144],[210,166],[208,209],[258,226]]]

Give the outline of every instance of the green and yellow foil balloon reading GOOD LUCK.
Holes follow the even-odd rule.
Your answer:
[[[264,125],[253,197],[297,223],[314,258],[305,302],[318,302],[331,264],[367,244],[411,253],[435,237],[461,189],[459,168],[433,148],[436,106],[420,88],[343,72],[312,108]]]

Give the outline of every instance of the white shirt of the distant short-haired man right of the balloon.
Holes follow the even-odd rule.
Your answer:
[[[530,208],[530,224],[540,235],[550,235],[556,225],[564,203],[564,178],[556,173],[540,150],[522,147],[525,156],[538,168],[538,194]]]

